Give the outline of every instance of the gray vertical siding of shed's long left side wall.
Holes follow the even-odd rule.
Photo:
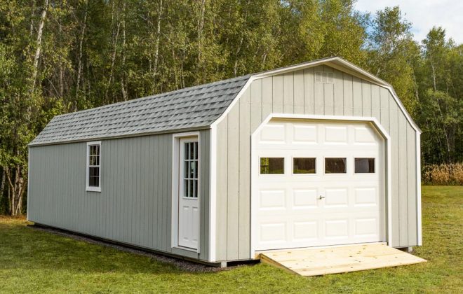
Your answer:
[[[209,134],[200,131],[201,187],[209,187]],[[86,191],[85,142],[29,147],[29,221],[207,261],[208,188],[201,190],[200,253],[171,248],[172,140],[102,140],[101,193]]]

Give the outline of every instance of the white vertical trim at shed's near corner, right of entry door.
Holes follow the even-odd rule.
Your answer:
[[[217,125],[210,126],[209,140],[209,261],[215,262],[217,240]]]

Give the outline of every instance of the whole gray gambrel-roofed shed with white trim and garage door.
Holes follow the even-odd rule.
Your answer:
[[[340,57],[56,116],[29,221],[201,262],[422,244],[420,129]]]

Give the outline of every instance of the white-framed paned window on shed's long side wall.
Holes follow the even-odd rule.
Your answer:
[[[87,143],[87,189],[101,191],[101,142]]]

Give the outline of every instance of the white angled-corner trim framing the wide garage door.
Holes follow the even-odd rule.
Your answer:
[[[360,116],[318,116],[318,115],[300,115],[300,114],[285,114],[285,113],[270,113],[267,118],[257,127],[255,132],[251,135],[251,151],[250,151],[250,158],[251,158],[251,199],[250,199],[250,258],[254,258],[255,256],[255,248],[256,248],[256,238],[255,234],[255,225],[256,225],[256,211],[255,208],[257,207],[257,203],[255,197],[253,197],[254,187],[253,183],[257,179],[255,170],[257,167],[257,160],[255,160],[255,153],[256,153],[256,146],[257,146],[257,134],[259,134],[260,130],[269,123],[272,118],[287,118],[287,119],[307,119],[307,120],[347,120],[347,121],[361,121],[361,122],[370,122],[376,128],[377,132],[384,138],[385,141],[385,166],[387,172],[384,174],[384,188],[386,192],[386,205],[384,209],[386,209],[387,220],[386,223],[386,236],[387,236],[387,245],[392,246],[392,209],[391,209],[391,137],[389,133],[384,130],[384,127],[377,121],[376,118],[373,117],[360,117]]]

